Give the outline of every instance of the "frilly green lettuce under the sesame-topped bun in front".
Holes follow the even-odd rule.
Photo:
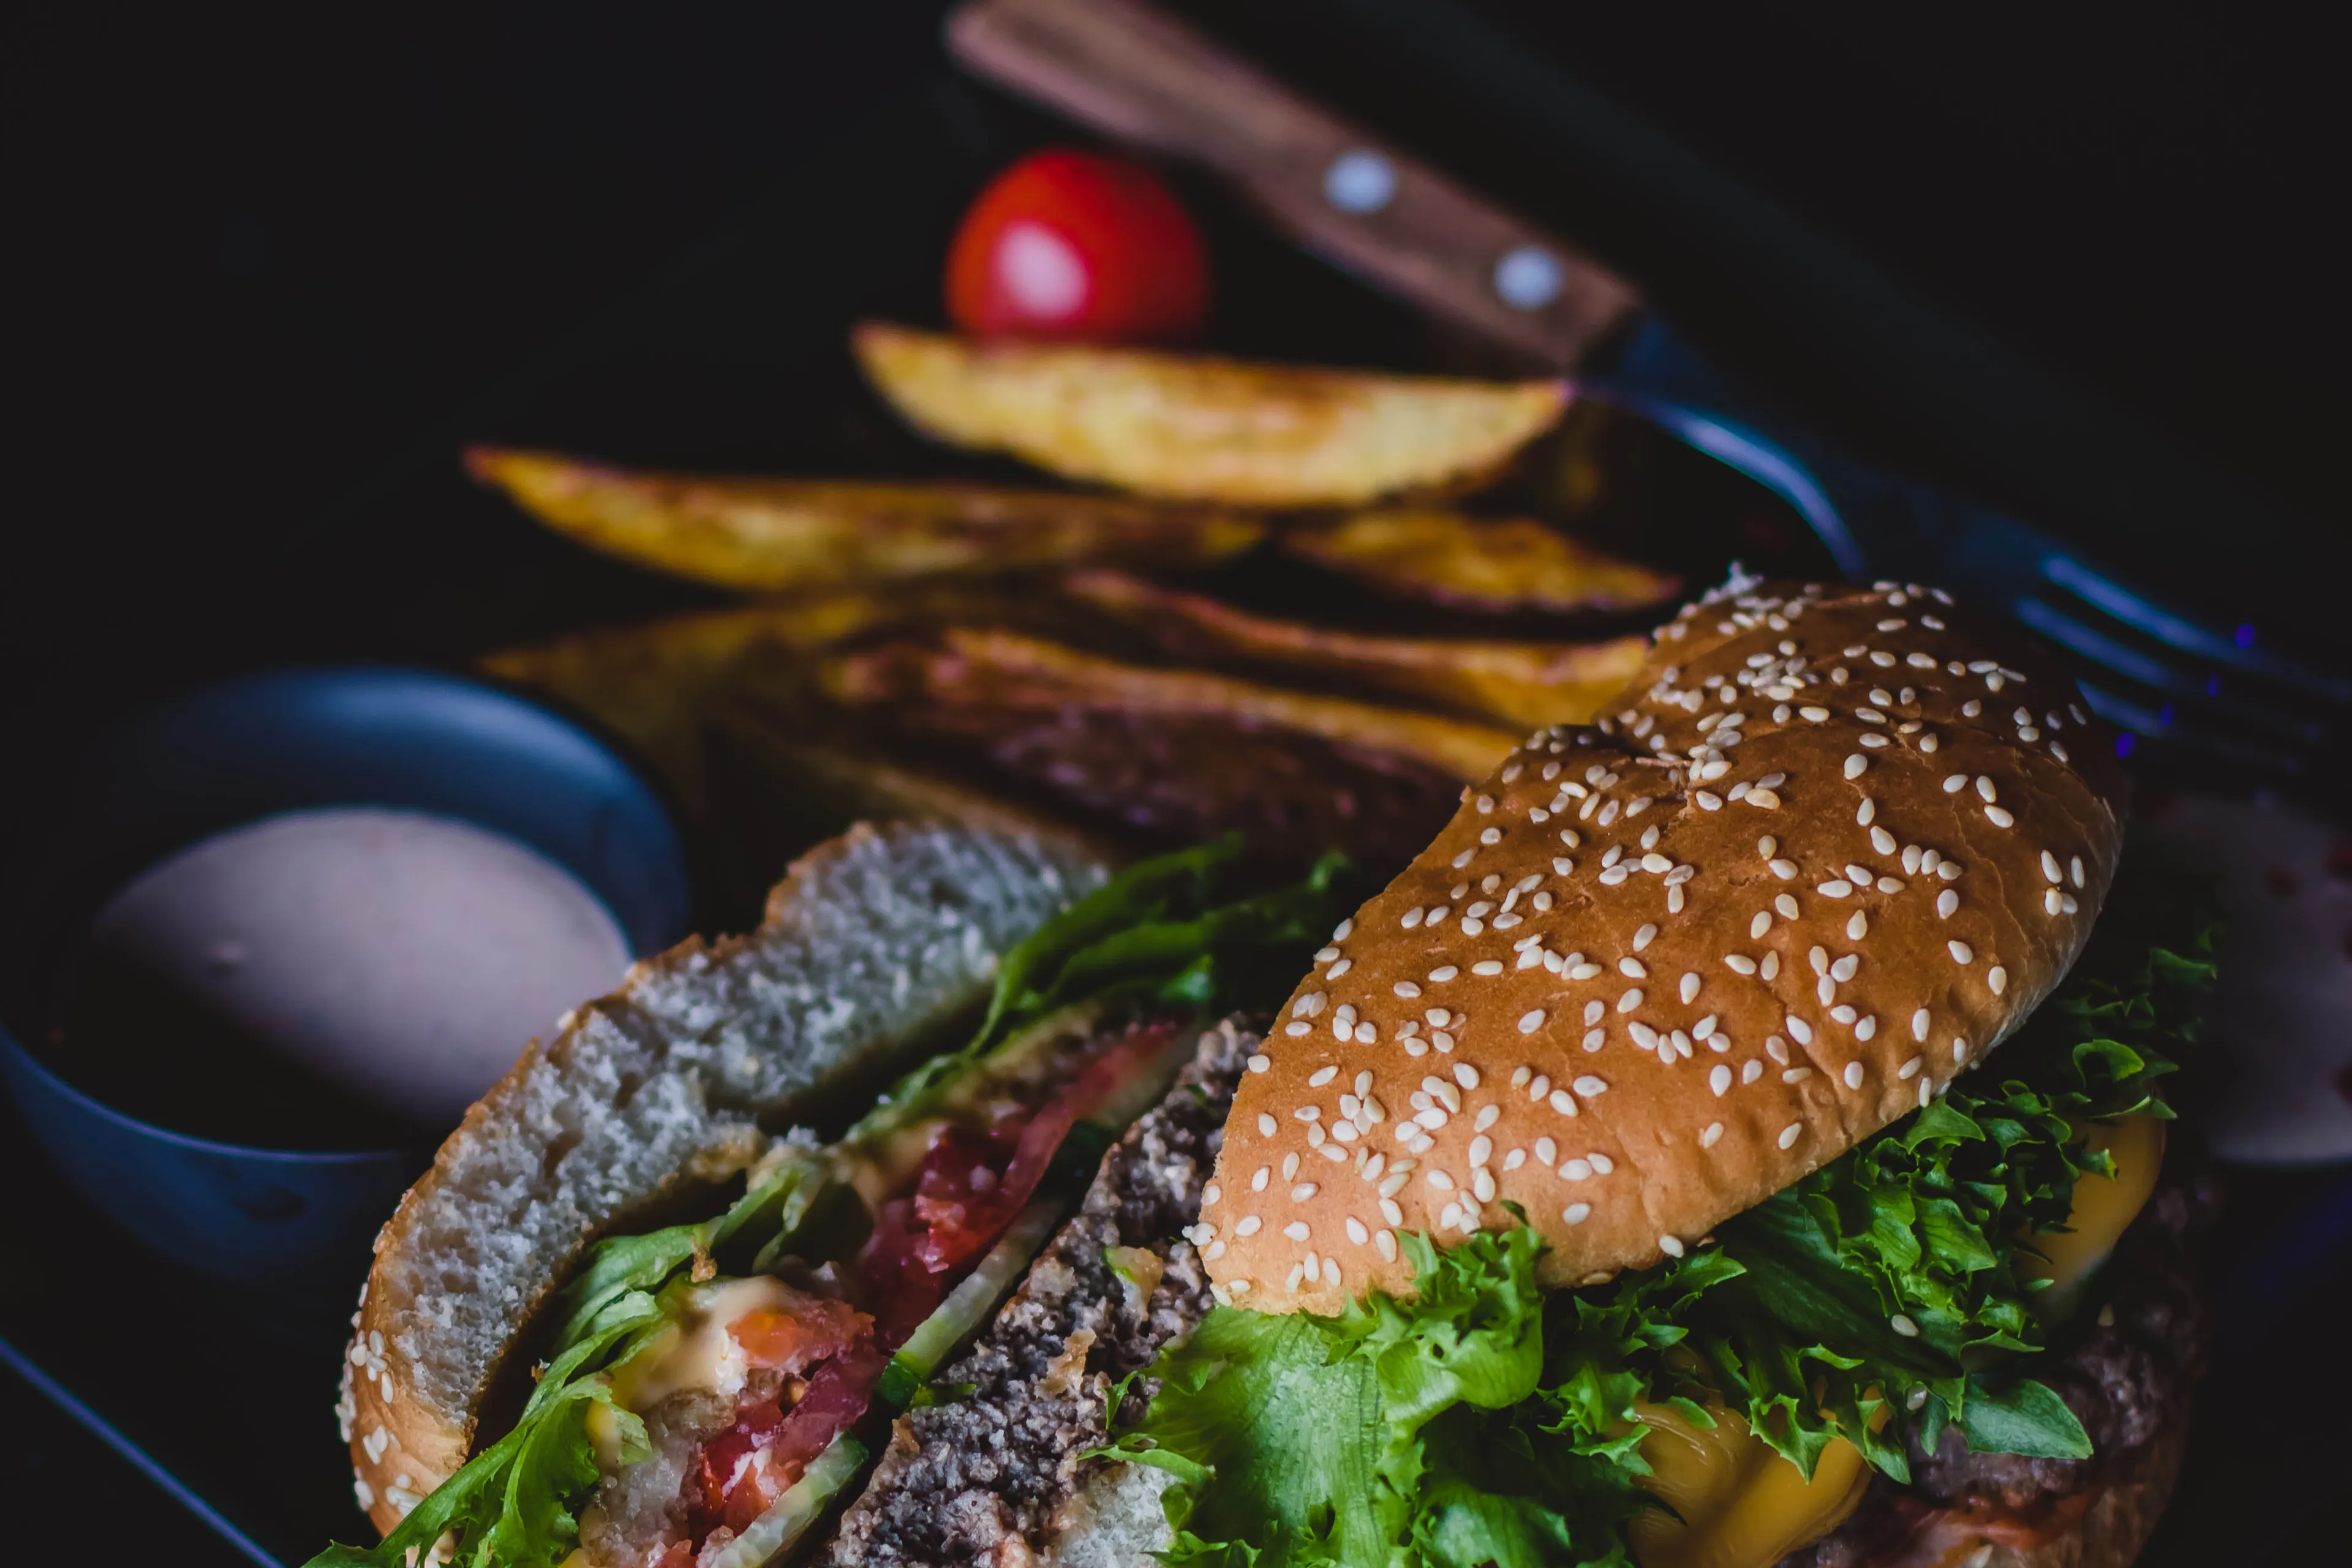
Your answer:
[[[2063,1227],[2084,1171],[2112,1173],[2086,1124],[2171,1114],[2154,1084],[2194,1039],[2211,933],[2180,900],[2150,912],[2192,936],[2117,919],[1994,1067],[1686,1258],[1545,1295],[1526,1227],[1442,1253],[1409,1237],[1411,1300],[1211,1309],[1105,1450],[1176,1479],[1169,1563],[1628,1563],[1635,1401],[1698,1425],[1698,1399],[1726,1403],[1809,1476],[1846,1439],[1903,1481],[1905,1436],[1952,1422],[1978,1450],[2089,1455],[2032,1378],[2058,1314],[2020,1237]]]

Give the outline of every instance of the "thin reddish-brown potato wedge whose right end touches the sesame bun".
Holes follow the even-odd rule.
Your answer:
[[[1583,724],[1625,689],[1646,637],[1606,642],[1446,642],[1364,637],[1272,621],[1110,569],[1073,571],[1063,590],[1143,630],[1176,658],[1310,670],[1395,696],[1432,698],[1522,729]]]

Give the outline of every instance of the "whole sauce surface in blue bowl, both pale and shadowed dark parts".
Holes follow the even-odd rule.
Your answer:
[[[64,1044],[82,1088],[160,1126],[367,1147],[454,1126],[628,961],[602,900],[501,832],[289,811],[191,844],[106,903]]]

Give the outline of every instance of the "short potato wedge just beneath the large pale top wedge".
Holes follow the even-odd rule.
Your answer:
[[[1590,550],[1534,517],[1357,512],[1289,527],[1279,548],[1381,592],[1463,609],[1621,611],[1682,592],[1677,578]]]

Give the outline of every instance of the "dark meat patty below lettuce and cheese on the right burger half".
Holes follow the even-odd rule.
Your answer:
[[[2089,1333],[2034,1366],[2034,1378],[2065,1399],[2091,1436],[2089,1460],[1969,1453],[1952,1427],[1929,1453],[1915,1434],[1912,1483],[1872,1476],[1853,1516],[1780,1559],[1780,1568],[1867,1568],[1900,1552],[1933,1509],[1976,1502],[2030,1514],[2131,1474],[2166,1427],[2187,1420],[2204,1373],[2213,1314],[2197,1279],[2197,1239],[2216,1211],[2206,1173],[2159,1185],[2117,1241],[2105,1274],[2107,1305]]]

